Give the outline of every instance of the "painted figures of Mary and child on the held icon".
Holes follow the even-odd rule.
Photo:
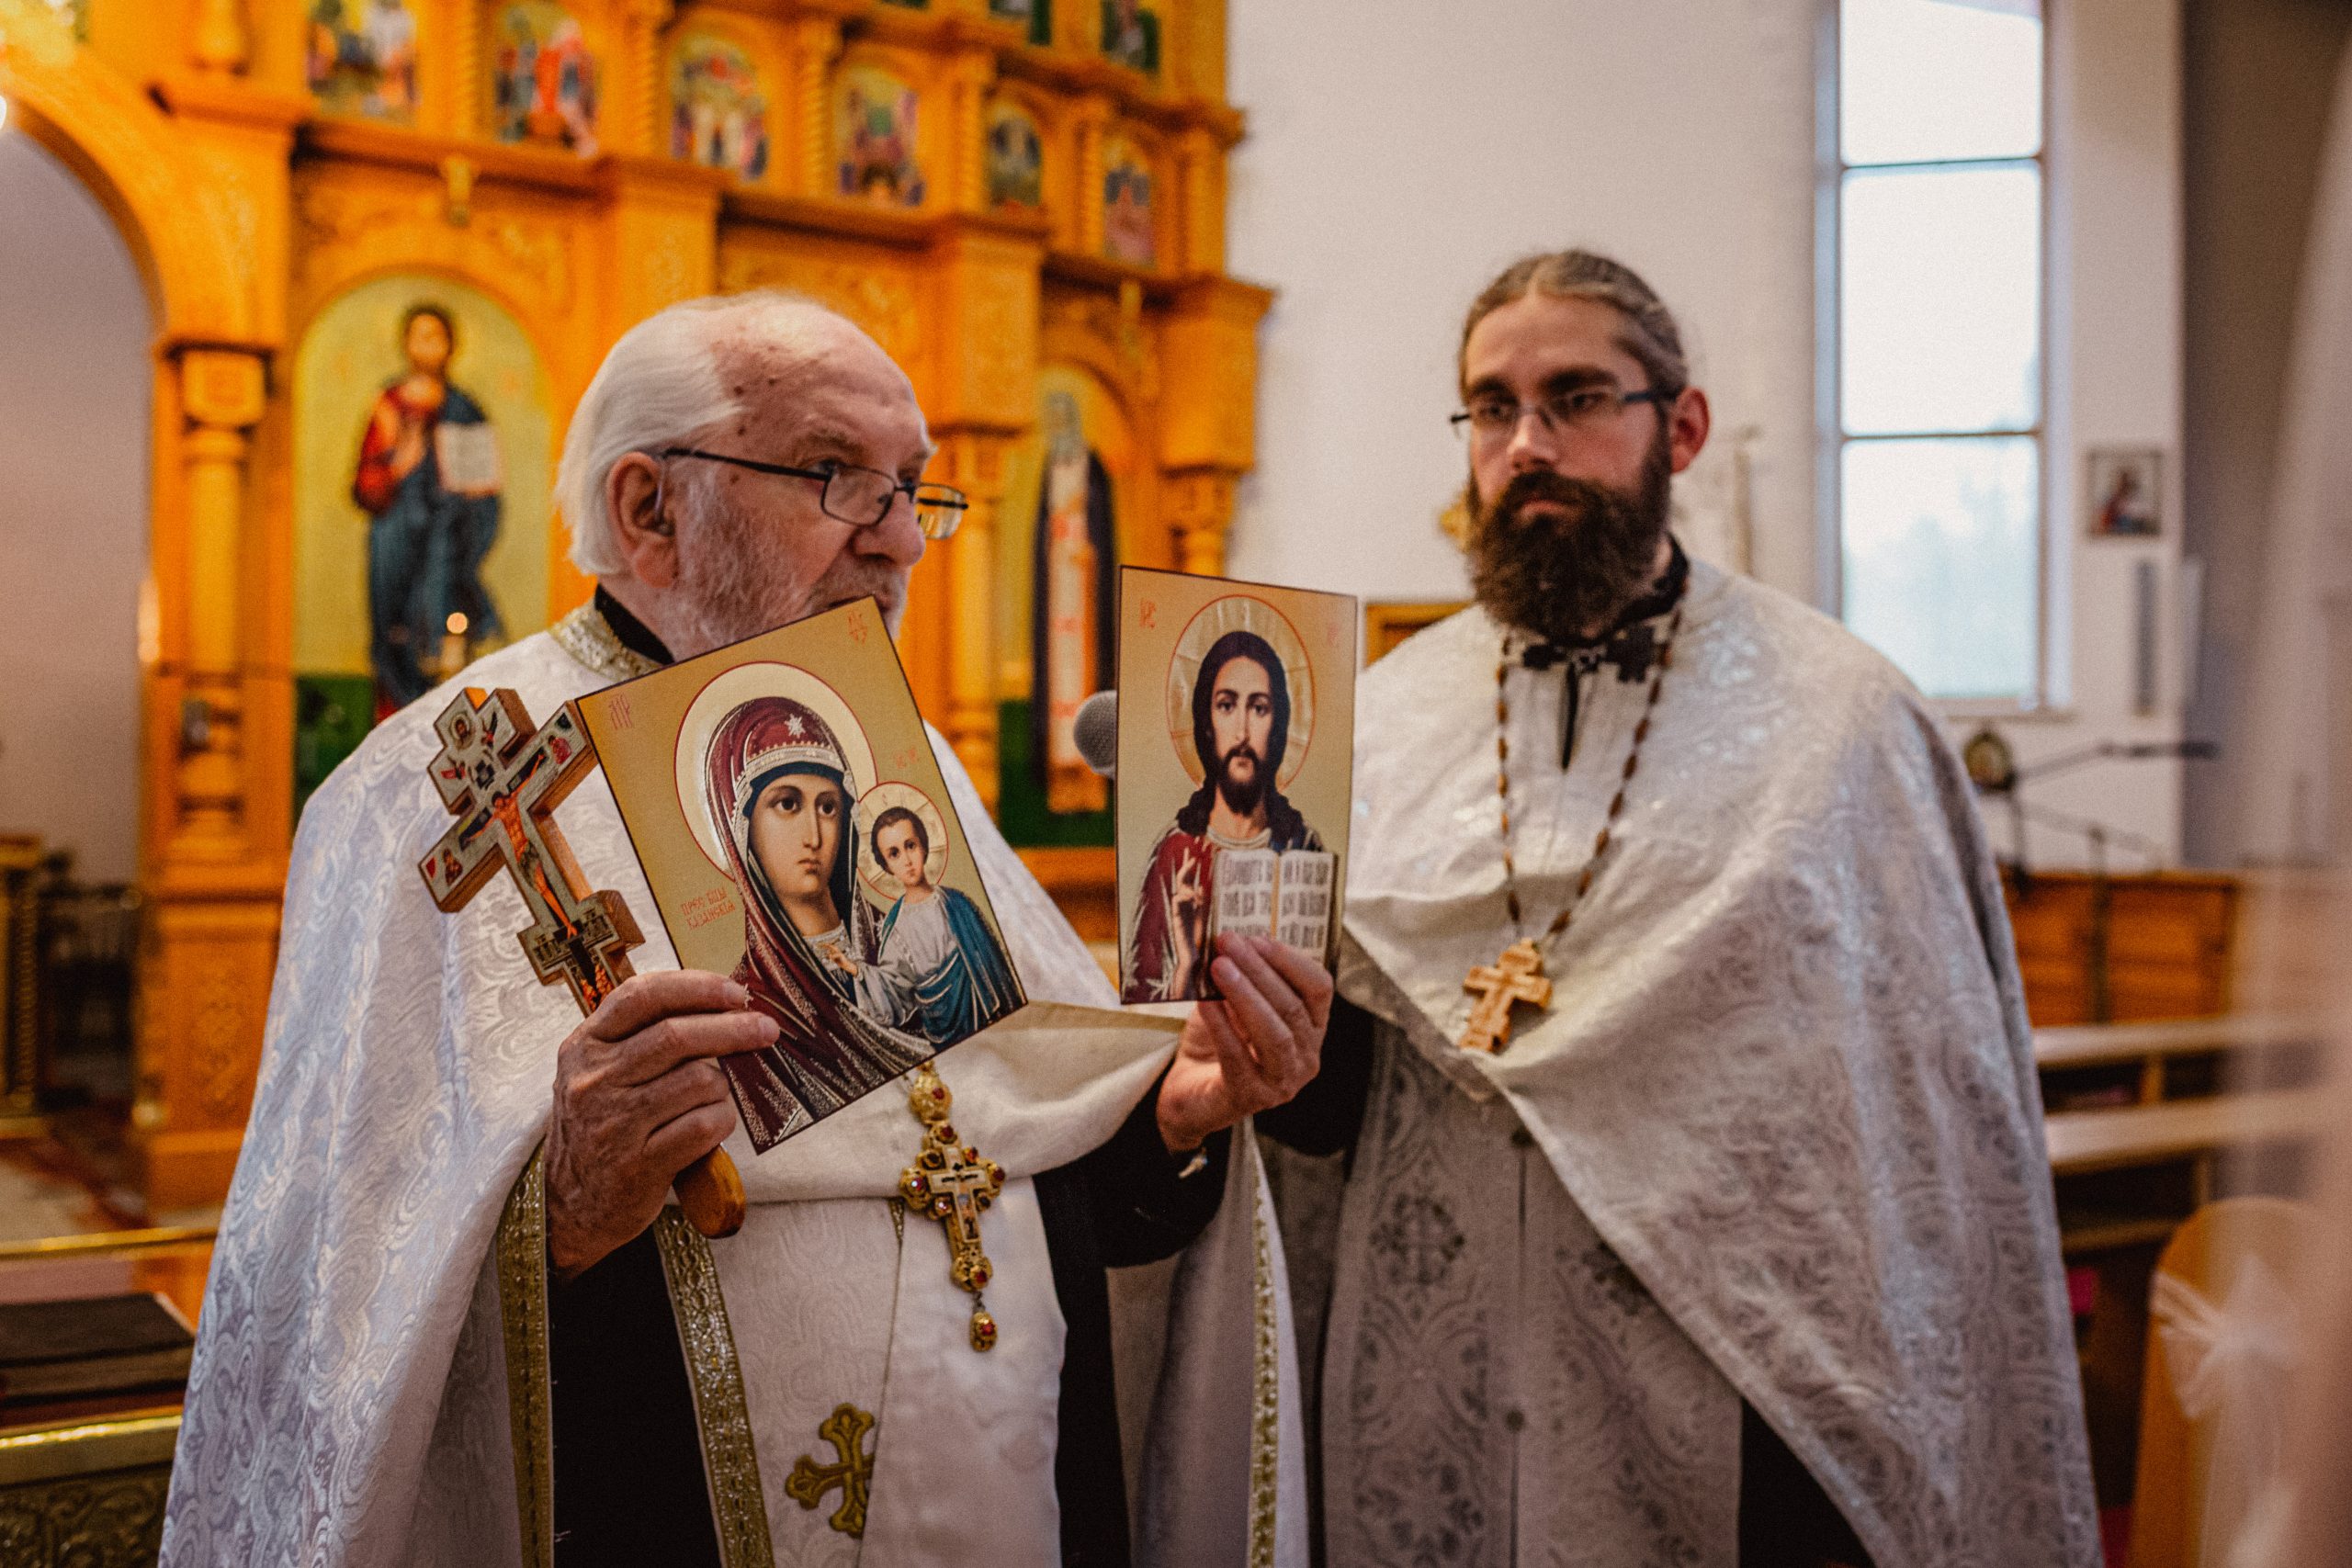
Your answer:
[[[720,1063],[757,1150],[1021,1006],[981,907],[938,884],[946,832],[924,823],[938,809],[913,785],[884,785],[863,797],[880,804],[863,825],[849,755],[788,696],[736,705],[703,755],[710,823],[743,903],[734,978],[781,1025],[774,1046]],[[898,889],[884,914],[858,891],[861,853],[875,860],[868,886]]]

